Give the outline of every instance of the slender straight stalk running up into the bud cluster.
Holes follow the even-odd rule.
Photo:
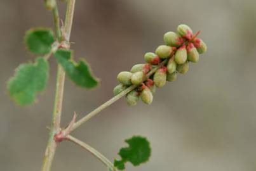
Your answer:
[[[168,59],[162,61],[156,68],[153,68],[149,73],[147,73],[145,80],[149,79],[149,77],[156,72],[156,70],[158,70],[158,68],[160,68],[161,66],[165,65],[168,62]],[[132,91],[133,89],[135,89],[136,87],[138,87],[138,85],[131,85],[130,87],[126,88],[124,91],[120,92],[118,95],[114,96],[113,98],[109,99],[109,101],[106,101],[105,103],[103,103],[102,105],[98,106],[98,108],[96,108],[95,110],[91,111],[90,113],[88,113],[88,115],[86,115],[85,117],[81,118],[80,120],[78,120],[72,127],[72,130],[77,129],[77,127],[80,127],[81,125],[84,124],[84,122],[90,120],[90,118],[94,117],[95,115],[97,115],[100,111],[104,110],[105,108],[107,108],[107,106],[112,105],[112,103],[118,101],[118,99],[122,98],[123,96],[125,96],[125,94],[127,94],[128,92]],[[72,131],[71,130],[71,131]]]

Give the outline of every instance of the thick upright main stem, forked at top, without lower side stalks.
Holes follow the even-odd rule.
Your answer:
[[[69,0],[67,3],[67,13],[66,13],[66,22],[65,22],[65,31],[67,31],[66,41],[69,41],[69,37],[71,34],[72,27],[72,19],[74,15],[74,3],[75,0]],[[57,39],[60,42],[62,39],[61,31],[60,31],[60,19],[58,16],[58,8],[57,5],[53,8],[53,19],[55,23],[55,31],[57,34]],[[57,84],[56,84],[56,94],[55,94],[55,103],[53,108],[53,115],[51,118],[51,129],[50,135],[48,139],[48,145],[46,147],[46,151],[44,154],[43,165],[41,167],[41,171],[50,171],[51,163],[53,162],[53,158],[55,155],[57,142],[54,140],[55,134],[60,130],[60,118],[62,112],[62,101],[64,94],[64,82],[65,82],[65,72],[60,65],[58,65],[57,71]]]

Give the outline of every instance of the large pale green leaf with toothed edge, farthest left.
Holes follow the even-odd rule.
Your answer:
[[[8,81],[8,91],[18,105],[34,103],[36,94],[45,89],[48,80],[49,65],[44,58],[37,58],[36,63],[18,66],[14,77]]]

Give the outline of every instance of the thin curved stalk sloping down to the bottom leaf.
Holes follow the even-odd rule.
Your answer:
[[[67,136],[67,140],[71,141],[72,143],[77,144],[78,146],[81,146],[81,148],[85,149],[86,151],[89,151],[92,155],[98,158],[100,162],[104,163],[106,167],[111,168],[111,170],[115,170],[114,165],[100,152],[98,152],[96,149],[92,148],[88,144],[84,143],[83,141],[80,141],[79,139],[76,139],[75,137],[72,136]]]

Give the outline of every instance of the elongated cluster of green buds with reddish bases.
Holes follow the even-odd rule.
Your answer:
[[[139,98],[150,105],[156,87],[163,87],[166,81],[176,80],[177,73],[186,73],[189,62],[198,62],[199,54],[206,52],[207,46],[197,37],[198,34],[193,34],[191,28],[184,24],[178,26],[177,33],[166,32],[163,37],[165,45],[158,46],[155,53],[145,53],[145,64],[136,64],[130,72],[118,74],[120,84],[114,88],[114,95],[130,85],[137,85],[137,88],[126,94],[128,105],[136,105]],[[151,73],[151,70],[155,72]]]

